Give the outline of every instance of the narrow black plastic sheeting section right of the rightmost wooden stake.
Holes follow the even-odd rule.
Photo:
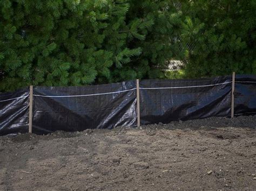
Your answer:
[[[234,89],[234,115],[256,114],[256,76],[236,75]]]

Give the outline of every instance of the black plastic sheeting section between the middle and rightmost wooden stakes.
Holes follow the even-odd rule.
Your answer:
[[[231,116],[232,77],[140,82],[140,122]]]

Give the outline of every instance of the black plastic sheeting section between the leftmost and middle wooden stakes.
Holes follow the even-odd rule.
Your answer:
[[[136,121],[135,81],[33,89],[33,133],[111,129]]]

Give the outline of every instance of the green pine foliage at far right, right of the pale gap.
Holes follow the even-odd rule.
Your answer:
[[[195,43],[186,76],[256,74],[255,10],[254,0],[183,1],[182,38]]]

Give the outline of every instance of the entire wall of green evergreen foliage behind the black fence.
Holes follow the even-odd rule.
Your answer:
[[[255,10],[254,0],[2,0],[0,91],[256,74]],[[166,73],[171,59],[185,70]]]

